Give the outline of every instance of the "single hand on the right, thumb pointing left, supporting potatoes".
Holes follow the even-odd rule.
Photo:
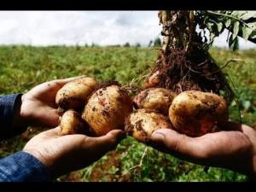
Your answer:
[[[225,127],[225,131],[201,137],[159,129],[150,137],[149,145],[195,164],[228,168],[255,177],[256,131],[247,125],[231,122]]]

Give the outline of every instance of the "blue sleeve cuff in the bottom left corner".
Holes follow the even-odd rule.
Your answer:
[[[17,152],[0,160],[1,182],[49,181],[44,165],[31,154]]]

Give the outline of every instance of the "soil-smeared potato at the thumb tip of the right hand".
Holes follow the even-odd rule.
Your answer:
[[[142,143],[147,143],[152,133],[160,128],[172,129],[172,124],[166,116],[154,110],[137,109],[125,120],[125,131]]]

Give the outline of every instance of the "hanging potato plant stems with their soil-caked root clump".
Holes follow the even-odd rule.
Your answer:
[[[144,82],[144,89],[161,87],[177,94],[201,90],[218,95],[224,90],[224,98],[230,102],[234,93],[209,54],[207,44],[195,32],[196,22],[191,12],[160,11],[159,18],[163,27],[163,47]]]

